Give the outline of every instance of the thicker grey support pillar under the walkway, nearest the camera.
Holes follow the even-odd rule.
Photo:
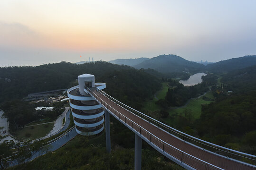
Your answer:
[[[142,138],[135,134],[134,170],[142,169]]]

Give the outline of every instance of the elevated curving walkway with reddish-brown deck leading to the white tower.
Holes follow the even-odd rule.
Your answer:
[[[157,151],[189,170],[256,170],[255,165],[228,158],[172,135],[159,126],[125,109],[100,89],[87,88],[97,102],[116,119],[139,135]],[[214,145],[214,144],[213,144]],[[240,153],[240,152],[237,152]],[[256,156],[247,154],[248,157]]]

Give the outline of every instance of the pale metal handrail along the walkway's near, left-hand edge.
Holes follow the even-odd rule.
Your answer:
[[[88,93],[92,93],[91,95],[92,96],[97,96],[98,97],[98,99],[100,99],[100,97],[97,95],[97,94],[95,94],[91,89],[89,89],[88,87],[87,87],[87,91],[88,91]],[[95,97],[95,99],[98,101],[98,102],[100,102],[98,99],[97,99],[97,97]],[[101,104],[102,104],[102,102],[104,102],[103,100],[101,100]],[[105,104],[107,105],[107,106],[105,106]],[[118,114],[119,114],[119,119],[120,119],[120,115],[122,115],[124,118],[125,118],[125,120],[126,119],[128,119],[128,120],[130,120],[131,122],[132,122],[132,126],[130,126],[130,125],[128,125],[125,121],[123,121],[122,119],[120,119],[120,120],[122,120],[126,125],[128,125],[128,126],[130,126],[131,128],[133,128],[133,124],[136,124],[138,127],[140,127],[140,132],[141,132],[141,129],[143,129],[145,132],[147,132],[148,134],[150,134],[150,138],[152,138],[151,136],[153,136],[153,137],[155,137],[157,140],[159,140],[159,141],[161,141],[161,143],[163,144],[163,148],[161,148],[163,151],[164,151],[164,145],[168,145],[168,146],[170,146],[171,148],[173,148],[173,149],[175,149],[175,150],[178,150],[178,151],[180,151],[181,152],[181,155],[182,154],[186,154],[186,155],[188,155],[188,156],[190,156],[190,157],[192,157],[192,158],[194,158],[194,159],[196,159],[197,161],[201,161],[201,162],[203,162],[203,163],[205,163],[205,164],[207,164],[207,165],[209,165],[209,166],[212,166],[212,167],[214,167],[214,168],[217,168],[218,170],[224,170],[224,169],[222,169],[222,168],[219,168],[219,167],[217,167],[217,166],[215,166],[215,165],[213,165],[213,164],[211,164],[211,163],[209,163],[209,162],[206,162],[206,161],[203,161],[203,160],[201,160],[201,159],[199,159],[199,158],[197,158],[197,157],[195,157],[195,156],[193,156],[193,155],[190,155],[189,153],[185,153],[184,151],[181,151],[180,149],[178,149],[178,148],[176,148],[176,147],[174,147],[174,146],[172,146],[171,144],[168,144],[168,143],[166,143],[166,142],[164,142],[163,140],[161,140],[160,138],[158,138],[157,136],[155,136],[155,135],[153,135],[152,133],[150,133],[148,130],[146,130],[145,128],[143,128],[143,127],[141,127],[139,124],[137,124],[137,123],[135,123],[135,122],[133,122],[133,120],[131,120],[131,119],[129,119],[129,118],[127,118],[126,116],[124,116],[122,113],[120,113],[119,111],[117,111],[117,110],[115,110],[113,107],[111,107],[109,104],[107,104],[106,102],[104,102],[104,107],[105,108],[108,108],[108,107],[110,107],[111,108],[111,110],[114,110],[115,111],[115,113],[116,112],[118,112]],[[109,110],[109,109],[108,109]],[[116,116],[116,114],[114,113],[114,115]],[[117,117],[117,116],[116,116]],[[134,129],[134,128],[133,128]],[[135,131],[137,131],[136,129],[134,129]],[[137,131],[138,132],[138,131]],[[138,132],[138,133],[140,133],[140,132]],[[146,136],[144,136],[145,138],[147,138]],[[151,141],[150,141],[151,142]],[[152,143],[152,142],[151,142]],[[154,144],[154,143],[153,143]],[[156,145],[156,144],[155,144]],[[158,145],[156,145],[157,147],[159,147]],[[159,147],[160,148],[160,147]],[[181,157],[181,160],[180,160],[181,162],[182,162],[182,157]],[[184,161],[183,161],[184,162]]]

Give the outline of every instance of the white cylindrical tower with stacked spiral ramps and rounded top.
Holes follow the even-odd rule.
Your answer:
[[[78,76],[78,85],[67,90],[69,104],[80,135],[96,135],[104,129],[104,108],[87,93],[86,87],[106,88],[105,83],[95,83],[95,76],[83,74]]]

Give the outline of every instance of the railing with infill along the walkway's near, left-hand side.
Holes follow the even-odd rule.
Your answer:
[[[97,94],[95,94],[91,89],[87,88],[87,91],[95,97],[95,99],[100,102],[107,110],[112,112],[116,119],[119,119],[124,124],[128,125],[132,129],[134,129],[136,132],[138,132],[140,135],[142,135],[144,138],[150,141],[150,143],[154,144],[158,148],[160,148],[163,152],[170,154],[174,158],[176,158],[178,161],[183,162],[195,169],[200,170],[223,170],[215,165],[212,165],[206,161],[200,160],[199,158],[196,158],[195,156],[192,156],[188,153],[185,153],[181,151],[180,149],[172,146],[171,144],[168,144],[158,138],[157,136],[150,133],[145,128],[141,127],[137,123],[133,122],[133,120],[127,118],[119,111],[115,110],[113,107],[111,107],[109,104],[104,102]],[[104,93],[105,94],[105,93]],[[106,95],[106,94],[105,94]],[[113,101],[114,102],[114,101]]]

